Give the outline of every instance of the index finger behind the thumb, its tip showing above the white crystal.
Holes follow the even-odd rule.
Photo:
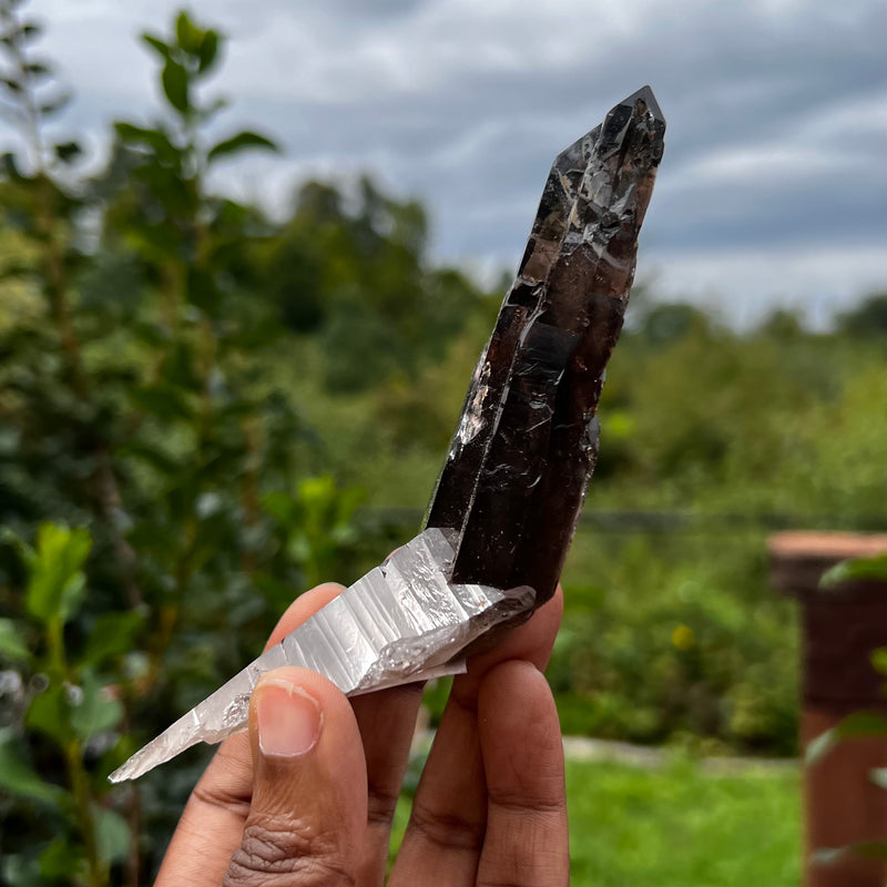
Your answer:
[[[281,618],[266,645],[279,643],[343,585],[328,582],[299,595]],[[186,883],[213,885],[222,880],[231,855],[241,843],[253,795],[253,757],[246,734],[225,740],[210,762],[175,829],[155,887]]]

